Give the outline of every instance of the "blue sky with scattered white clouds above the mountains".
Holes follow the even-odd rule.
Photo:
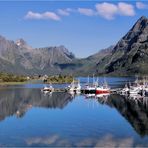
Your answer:
[[[87,57],[116,44],[142,15],[147,1],[0,1],[0,35],[32,47],[64,45]]]

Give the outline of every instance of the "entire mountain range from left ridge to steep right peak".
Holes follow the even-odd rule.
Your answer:
[[[115,46],[78,59],[64,46],[32,48],[0,36],[0,71],[16,74],[148,74],[148,19],[142,16]]]

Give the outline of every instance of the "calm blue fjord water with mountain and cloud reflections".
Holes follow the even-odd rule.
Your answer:
[[[129,80],[107,78],[112,88]],[[148,99],[50,95],[43,86],[0,89],[0,146],[148,146]]]

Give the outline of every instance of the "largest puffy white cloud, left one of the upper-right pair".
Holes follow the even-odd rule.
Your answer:
[[[118,7],[114,4],[104,2],[96,4],[96,10],[100,16],[108,20],[112,20],[114,19],[115,14],[118,12]]]

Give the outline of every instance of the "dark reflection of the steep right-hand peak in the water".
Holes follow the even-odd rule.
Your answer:
[[[148,135],[148,97],[110,95],[98,98],[98,102],[116,108],[139,135]]]

